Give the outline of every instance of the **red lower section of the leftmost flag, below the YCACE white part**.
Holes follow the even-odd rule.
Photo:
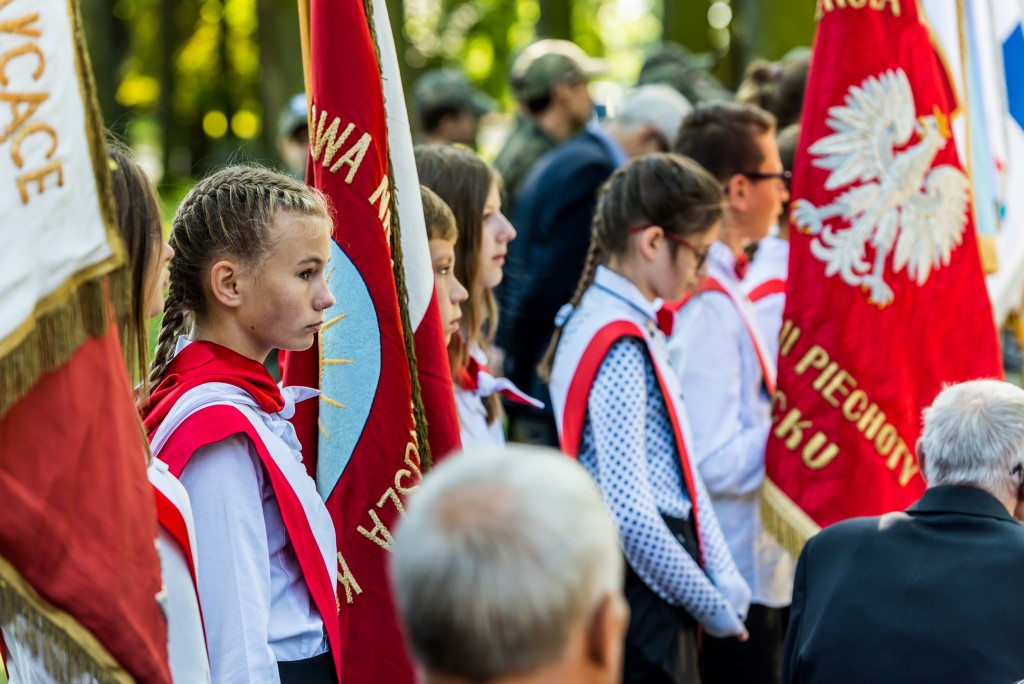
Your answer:
[[[171,681],[143,439],[113,330],[0,420],[0,605],[23,615],[4,630],[57,680]]]

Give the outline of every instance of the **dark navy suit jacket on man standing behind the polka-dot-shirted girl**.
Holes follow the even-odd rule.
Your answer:
[[[498,292],[497,342],[505,350],[505,375],[549,407],[537,365],[551,340],[555,314],[575,291],[597,191],[614,170],[606,142],[584,130],[538,162],[512,207],[518,236],[509,244]]]

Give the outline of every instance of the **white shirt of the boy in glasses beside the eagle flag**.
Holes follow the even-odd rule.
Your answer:
[[[733,265],[725,245],[712,245],[709,274],[738,288]],[[669,351],[693,427],[694,461],[752,601],[788,605],[794,559],[761,523],[771,399],[736,305],[718,292],[693,297],[676,318]]]

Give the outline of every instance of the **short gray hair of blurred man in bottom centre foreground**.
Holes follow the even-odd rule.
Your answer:
[[[485,681],[562,657],[572,629],[622,593],[601,495],[551,450],[480,450],[423,481],[395,536],[398,611],[427,670]]]

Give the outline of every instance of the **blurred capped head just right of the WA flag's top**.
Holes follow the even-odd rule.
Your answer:
[[[494,101],[454,69],[435,69],[416,82],[416,118],[422,142],[476,147],[480,117]]]

